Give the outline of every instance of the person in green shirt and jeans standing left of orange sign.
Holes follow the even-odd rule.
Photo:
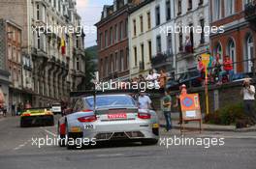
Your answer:
[[[171,118],[171,107],[172,107],[172,98],[170,96],[171,91],[165,92],[165,97],[162,99],[163,113],[166,120],[166,131],[172,129],[172,118]]]

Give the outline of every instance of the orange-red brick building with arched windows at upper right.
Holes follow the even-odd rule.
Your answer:
[[[224,33],[210,35],[211,52],[221,59],[229,55],[235,72],[252,72],[256,53],[256,34],[250,22],[255,23],[255,4],[253,0],[210,0],[211,26],[224,26]],[[250,5],[250,6],[248,6]],[[252,7],[252,16],[247,18],[246,11]]]

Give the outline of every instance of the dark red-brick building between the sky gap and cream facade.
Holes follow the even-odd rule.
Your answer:
[[[129,78],[128,11],[131,0],[114,0],[105,5],[101,20],[96,23],[99,49],[99,79]]]

